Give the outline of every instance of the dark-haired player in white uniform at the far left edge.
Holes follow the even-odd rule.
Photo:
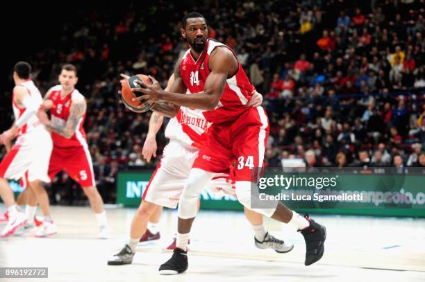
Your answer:
[[[15,123],[0,135],[0,143],[5,144],[17,135],[17,141],[0,163],[0,195],[8,208],[8,224],[0,237],[10,236],[22,227],[27,220],[33,223],[33,210],[21,213],[17,209],[15,197],[7,179],[19,179],[28,170],[31,186],[41,186],[50,182],[47,174],[49,159],[53,148],[50,133],[38,120],[35,113],[42,103],[40,91],[31,80],[31,66],[18,62],[13,69],[15,88],[12,94],[12,107]]]

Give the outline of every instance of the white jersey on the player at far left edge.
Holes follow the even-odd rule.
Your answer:
[[[34,85],[34,82],[32,80],[27,80],[26,82],[22,82],[22,84],[20,85],[25,87],[28,90],[28,94],[30,94],[31,100],[33,101],[33,103],[37,104],[36,107],[41,105],[41,103],[43,102],[43,98],[40,94],[40,91]],[[26,109],[24,107],[19,107],[19,105],[15,103],[13,95],[12,95],[12,108],[13,108],[13,114],[15,114],[15,121],[16,121],[20,116],[22,116],[22,114],[24,114]],[[19,128],[19,136],[23,134],[28,134],[31,132],[39,132],[39,131],[46,131],[46,128],[44,127],[44,125],[42,125],[38,117],[36,115],[33,115],[22,127]]]

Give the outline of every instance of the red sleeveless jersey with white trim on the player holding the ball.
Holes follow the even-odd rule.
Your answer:
[[[197,61],[195,61],[190,54],[190,49],[186,51],[185,55],[183,55],[180,65],[180,73],[183,78],[183,82],[190,93],[203,91],[206,78],[210,74],[208,59],[210,58],[210,54],[218,46],[225,46],[233,52],[230,47],[213,39],[207,39],[205,49],[203,49]],[[233,54],[235,54],[235,52],[233,52]],[[235,58],[238,60],[236,55]],[[249,109],[246,105],[252,96],[251,92],[254,87],[249,82],[239,60],[238,64],[239,69],[235,76],[228,78],[226,81],[226,85],[218,105],[212,111],[203,112],[203,116],[205,116],[206,120],[210,123],[233,121]]]

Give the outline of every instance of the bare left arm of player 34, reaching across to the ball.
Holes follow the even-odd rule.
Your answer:
[[[224,47],[216,48],[210,55],[210,74],[206,78],[203,91],[190,95],[181,95],[167,92],[162,89],[154,89],[144,83],[139,83],[142,88],[133,89],[144,95],[135,100],[165,101],[183,107],[194,107],[195,109],[213,110],[219,103],[227,78],[231,78],[238,71],[238,60],[232,51]]]

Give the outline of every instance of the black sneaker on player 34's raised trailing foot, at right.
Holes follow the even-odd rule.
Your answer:
[[[310,225],[302,230],[299,230],[306,240],[306,261],[305,265],[312,265],[322,258],[324,253],[324,241],[326,240],[326,228],[315,222],[308,215],[304,218],[310,222]]]

